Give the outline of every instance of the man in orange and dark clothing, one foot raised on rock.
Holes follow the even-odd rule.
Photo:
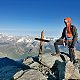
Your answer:
[[[77,41],[77,29],[75,26],[71,25],[71,18],[65,18],[64,23],[66,27],[63,29],[62,36],[60,39],[56,40],[54,43],[54,47],[56,50],[56,54],[59,55],[60,51],[58,45],[68,45],[70,61],[75,62],[75,53],[74,53],[74,45]]]

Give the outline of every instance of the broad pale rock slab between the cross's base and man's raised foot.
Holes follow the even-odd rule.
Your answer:
[[[56,60],[63,62],[60,56],[52,56],[50,53],[42,54],[40,55],[40,58],[40,62],[48,66],[49,68],[52,68]]]

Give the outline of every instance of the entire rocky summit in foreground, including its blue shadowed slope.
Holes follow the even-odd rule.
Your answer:
[[[20,61],[0,58],[0,80],[80,80],[80,52],[75,53],[75,64],[64,52],[55,56],[45,53]]]

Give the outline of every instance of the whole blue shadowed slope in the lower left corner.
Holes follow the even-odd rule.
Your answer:
[[[30,67],[20,62],[7,57],[0,58],[0,80],[13,80],[14,74],[27,69],[30,69]]]

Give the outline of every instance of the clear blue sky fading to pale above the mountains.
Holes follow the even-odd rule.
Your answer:
[[[0,33],[60,37],[66,17],[80,35],[80,0],[0,0]]]

